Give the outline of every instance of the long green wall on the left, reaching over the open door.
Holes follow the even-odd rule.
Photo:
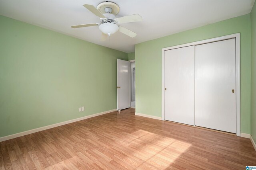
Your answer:
[[[127,53],[4,16],[0,23],[0,137],[116,109],[116,59]]]

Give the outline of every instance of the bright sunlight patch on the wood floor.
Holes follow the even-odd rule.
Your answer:
[[[126,141],[119,149],[134,155],[136,162],[140,162],[138,168],[168,168],[192,145],[142,129],[127,135],[133,139]],[[158,164],[158,162],[164,163]]]

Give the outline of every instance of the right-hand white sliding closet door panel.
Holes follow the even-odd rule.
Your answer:
[[[195,51],[195,124],[236,133],[236,40]]]

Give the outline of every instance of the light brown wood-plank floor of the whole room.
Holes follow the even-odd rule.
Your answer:
[[[250,139],[134,115],[126,109],[0,143],[0,169],[240,169]]]

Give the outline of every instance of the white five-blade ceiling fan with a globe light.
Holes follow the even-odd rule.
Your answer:
[[[98,4],[97,8],[90,4],[84,4],[85,8],[87,8],[90,12],[95,14],[100,18],[100,23],[88,23],[82,25],[73,25],[72,28],[81,28],[81,27],[90,27],[99,25],[100,31],[102,31],[101,41],[107,39],[111,34],[116,33],[116,31],[120,31],[129,37],[135,37],[137,34],[125,27],[120,26],[120,23],[128,23],[128,22],[137,22],[142,21],[142,17],[139,14],[134,14],[130,16],[124,16],[120,18],[116,18],[116,14],[118,14],[120,8],[114,2],[102,2]]]

